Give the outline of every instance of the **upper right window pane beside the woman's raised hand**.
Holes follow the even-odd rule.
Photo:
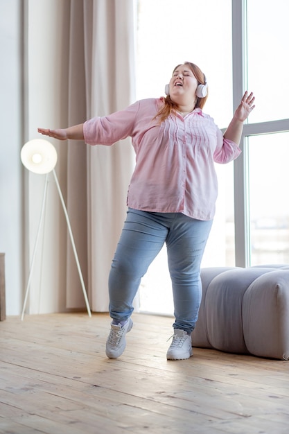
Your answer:
[[[288,118],[288,16],[288,0],[247,0],[247,84],[258,99],[250,123]]]

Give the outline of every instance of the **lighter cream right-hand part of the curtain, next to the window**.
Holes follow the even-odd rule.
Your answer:
[[[121,110],[134,99],[133,1],[98,1],[94,8],[90,116]],[[94,311],[107,311],[107,278],[126,212],[133,167],[130,139],[89,148],[89,288]]]

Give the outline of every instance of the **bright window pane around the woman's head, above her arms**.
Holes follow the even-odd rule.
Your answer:
[[[188,60],[207,76],[205,111],[220,128],[232,114],[231,0],[138,0],[137,99],[164,95],[174,67]]]

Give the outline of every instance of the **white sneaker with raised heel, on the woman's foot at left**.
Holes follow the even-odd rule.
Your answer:
[[[117,358],[123,354],[126,341],[125,335],[132,329],[132,320],[129,318],[121,327],[121,324],[111,324],[112,329],[106,342],[106,355],[108,358]]]

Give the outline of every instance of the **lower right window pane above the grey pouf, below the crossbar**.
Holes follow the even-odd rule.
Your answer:
[[[289,263],[289,132],[248,137],[250,263]]]

